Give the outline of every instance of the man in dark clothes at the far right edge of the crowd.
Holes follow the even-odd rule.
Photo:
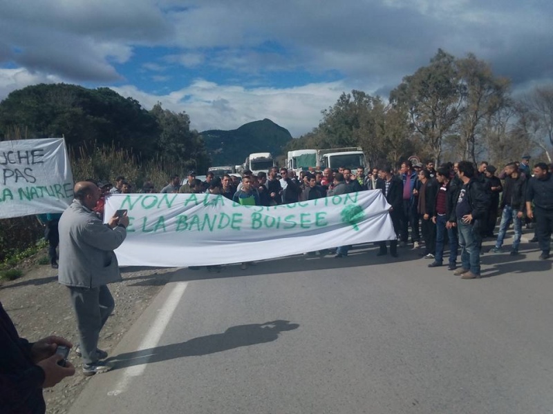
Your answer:
[[[532,212],[534,201],[534,212]],[[540,259],[549,259],[551,233],[553,231],[553,178],[545,162],[534,166],[534,177],[528,181],[526,190],[526,215],[536,215],[536,236],[541,249]]]

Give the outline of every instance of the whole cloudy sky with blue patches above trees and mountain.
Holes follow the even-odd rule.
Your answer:
[[[553,81],[551,0],[0,0],[0,99],[109,86],[198,130],[269,118],[294,137],[341,92],[388,97],[438,48],[514,90]]]

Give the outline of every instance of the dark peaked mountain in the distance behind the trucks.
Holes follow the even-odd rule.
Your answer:
[[[212,157],[212,166],[242,164],[252,152],[271,152],[273,157],[277,157],[292,140],[286,128],[270,119],[249,122],[230,131],[207,130],[200,132],[200,135]]]

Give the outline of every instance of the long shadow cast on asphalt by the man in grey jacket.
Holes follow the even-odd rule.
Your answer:
[[[299,328],[299,324],[290,324],[290,321],[284,320],[265,322],[264,324],[231,326],[223,333],[197,337],[178,344],[123,353],[106,359],[106,362],[110,362],[113,369],[120,369],[127,366],[168,361],[169,359],[207,355],[240,348],[241,346],[272,342],[278,339],[280,333],[297,328]]]

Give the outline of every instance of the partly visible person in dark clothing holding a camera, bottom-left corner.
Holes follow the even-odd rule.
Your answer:
[[[55,386],[75,374],[71,362],[56,355],[58,345],[71,348],[71,342],[47,337],[35,342],[19,337],[12,319],[0,303],[0,413],[44,413],[42,388]]]

